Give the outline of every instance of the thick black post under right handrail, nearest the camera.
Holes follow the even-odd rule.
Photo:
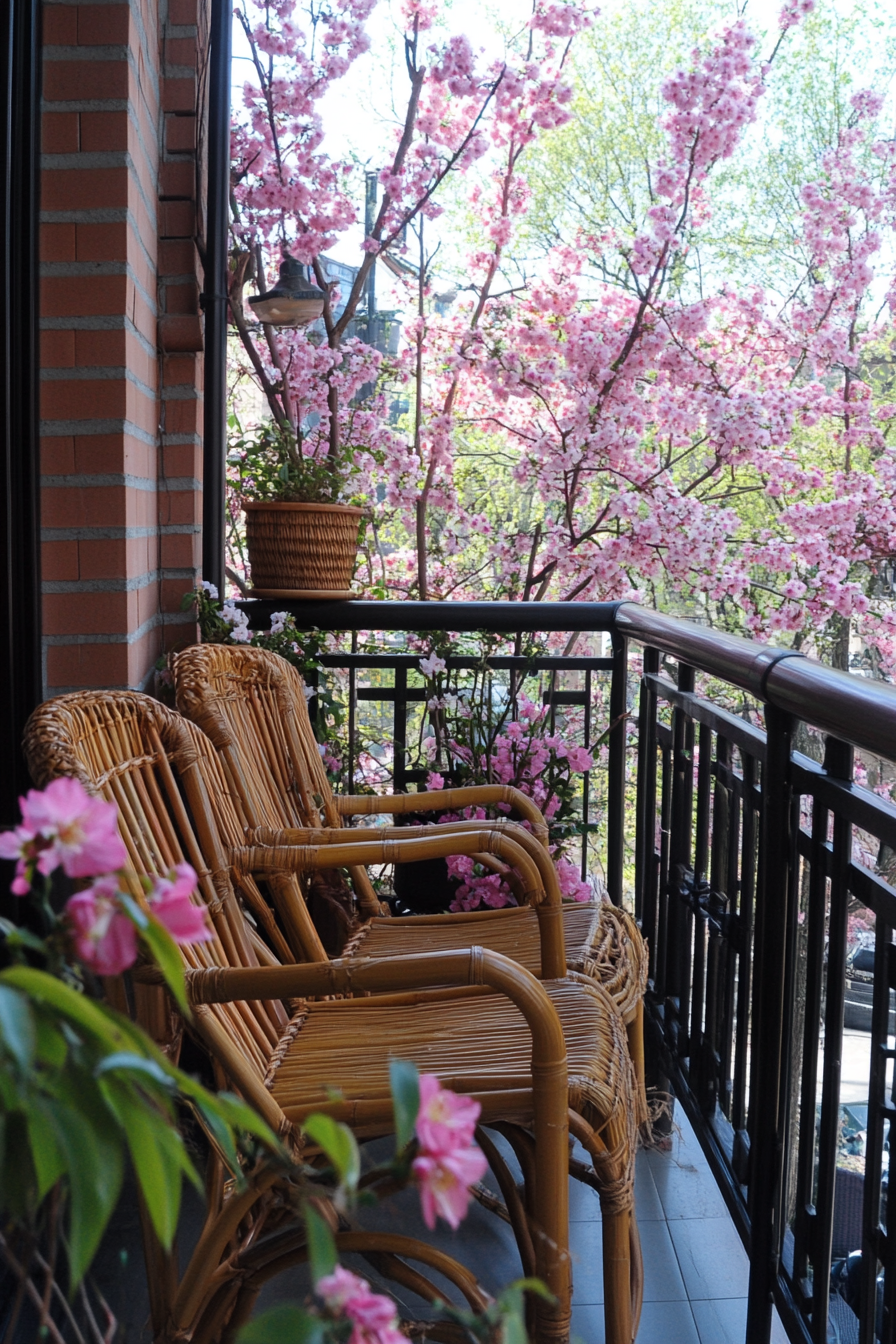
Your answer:
[[[752,1059],[750,1086],[750,1293],[748,1344],[767,1344],[778,1274],[776,1224],[782,1177],[780,1134],[785,970],[794,862],[790,716],[766,706],[762,832],[756,891]]]

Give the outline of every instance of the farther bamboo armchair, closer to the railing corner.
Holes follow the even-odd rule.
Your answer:
[[[261,844],[289,839],[296,844],[326,844],[367,839],[364,829],[340,832],[343,818],[359,814],[459,810],[467,806],[512,808],[531,825],[517,839],[533,859],[532,839],[547,847],[544,817],[525,794],[506,785],[486,785],[387,797],[336,797],[329,786],[308,715],[302,681],[285,659],[265,649],[200,644],[172,656],[179,710],[212,741],[232,793]],[[392,839],[411,835],[459,832],[481,823],[379,829]],[[301,833],[300,833],[301,832]],[[334,833],[336,832],[336,833]],[[528,843],[527,843],[528,841]],[[494,862],[480,855],[486,863]],[[578,970],[599,981],[626,1023],[629,1050],[638,1078],[638,1124],[647,1118],[643,1066],[643,992],[647,956],[634,919],[610,902],[563,906],[566,966],[543,965],[541,929],[531,906],[450,915],[382,919],[383,914],[367,870],[348,863],[361,914],[360,929],[343,956],[415,956],[481,943],[501,952],[533,974],[560,976]],[[279,883],[278,909],[289,926],[290,903],[301,899],[294,886]],[[290,938],[297,954],[313,956],[308,941]]]

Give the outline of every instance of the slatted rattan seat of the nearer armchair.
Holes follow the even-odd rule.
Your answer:
[[[570,1107],[614,1152],[617,1176],[629,1180],[633,1077],[621,1019],[604,991],[583,977],[548,980],[544,988],[566,1036]],[[390,1060],[410,1059],[422,1073],[438,1074],[443,1086],[477,1097],[485,1121],[528,1124],[531,1052],[523,1013],[501,995],[435,991],[302,1003],[274,1052],[266,1086],[286,1116],[301,1121],[312,1110],[333,1110],[330,1087],[339,1081],[347,1097],[361,1102],[348,1118],[372,1133],[379,1102],[391,1128]]]

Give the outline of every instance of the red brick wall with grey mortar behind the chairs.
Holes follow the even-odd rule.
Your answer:
[[[144,685],[189,633],[179,607],[200,552],[201,3],[43,11],[48,695]]]

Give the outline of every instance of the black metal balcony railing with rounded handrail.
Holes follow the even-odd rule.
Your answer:
[[[277,605],[300,628],[343,632],[610,636],[610,657],[567,661],[588,679],[610,676],[603,720],[586,728],[609,730],[598,857],[611,898],[634,902],[660,1067],[750,1253],[746,1339],[770,1339],[774,1302],[794,1341],[892,1340],[896,808],[856,767],[885,781],[896,762],[896,691],[634,603]],[[259,626],[271,603],[249,609]],[[416,657],[390,646],[326,661],[348,676],[352,732],[359,703],[379,698],[406,742],[423,694],[408,683]],[[563,661],[544,660],[551,673]],[[372,668],[391,668],[391,684],[364,685]],[[582,708],[591,691],[588,680],[576,692]],[[637,738],[626,722],[635,715]],[[416,782],[398,757],[395,782]],[[848,965],[850,925],[862,926],[872,960],[864,980]],[[868,1030],[845,1036],[860,1008]],[[848,1113],[864,1132],[852,1134],[845,1044],[868,1079],[866,1103]],[[852,1226],[848,1187],[861,1208]],[[861,1258],[832,1297],[832,1263],[849,1251]]]

